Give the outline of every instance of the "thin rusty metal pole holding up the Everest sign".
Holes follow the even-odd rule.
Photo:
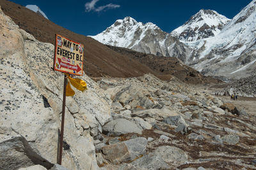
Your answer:
[[[62,115],[61,115],[61,132],[60,132],[60,154],[58,164],[61,165],[62,150],[63,150],[63,135],[64,135],[64,122],[65,122],[65,105],[66,105],[66,90],[67,90],[67,76],[64,76],[64,87],[63,87],[63,102],[62,102]]]

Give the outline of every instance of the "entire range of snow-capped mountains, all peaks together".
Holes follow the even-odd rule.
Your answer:
[[[92,36],[107,45],[177,57],[206,75],[230,78],[249,76],[255,71],[255,37],[256,0],[232,20],[216,11],[200,10],[184,25],[167,33],[155,24],[125,17]]]

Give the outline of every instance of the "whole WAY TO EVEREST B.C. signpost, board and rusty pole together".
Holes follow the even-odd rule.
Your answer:
[[[81,43],[76,43],[59,34],[56,34],[55,50],[54,50],[54,71],[61,71],[67,74],[74,74],[77,76],[83,75],[83,56],[84,46]],[[64,120],[65,120],[65,105],[66,105],[66,90],[67,90],[67,76],[64,76],[63,87],[63,104],[61,116],[61,133],[60,133],[60,150],[58,153],[57,163],[61,165],[62,150],[63,150],[63,134],[64,134]]]

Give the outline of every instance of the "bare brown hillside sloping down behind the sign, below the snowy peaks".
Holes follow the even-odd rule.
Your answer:
[[[218,82],[185,66],[175,57],[156,57],[125,48],[110,48],[95,39],[76,34],[50,20],[28,10],[24,6],[0,0],[3,12],[12,18],[21,29],[33,34],[39,41],[54,44],[55,34],[84,44],[84,71],[88,76],[131,77],[151,73],[162,80],[177,76],[188,83]],[[53,54],[52,54],[53,59]]]

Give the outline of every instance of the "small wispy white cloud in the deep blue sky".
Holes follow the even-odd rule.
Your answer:
[[[100,11],[106,11],[106,10],[110,10],[110,9],[120,8],[119,4],[112,4],[112,3],[95,8],[95,5],[98,1],[99,0],[92,0],[91,2],[84,4],[85,11],[86,12],[90,12],[90,11],[100,12]]]

